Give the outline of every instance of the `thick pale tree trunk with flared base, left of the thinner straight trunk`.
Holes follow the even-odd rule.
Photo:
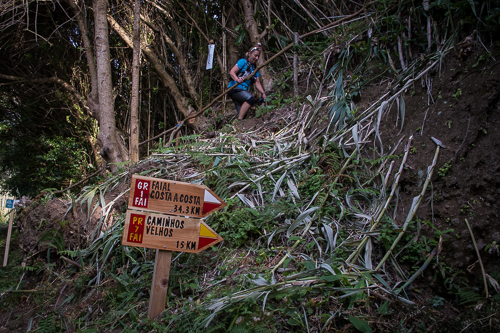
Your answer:
[[[110,165],[111,171],[117,169],[115,163],[128,160],[127,150],[115,124],[114,99],[112,94],[111,65],[108,41],[108,22],[106,20],[107,1],[94,0],[95,49],[97,63],[97,88],[99,92],[99,143],[101,155]]]

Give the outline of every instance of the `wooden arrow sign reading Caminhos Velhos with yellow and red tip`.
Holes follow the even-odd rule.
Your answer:
[[[198,253],[222,240],[200,219],[127,210],[122,244]]]

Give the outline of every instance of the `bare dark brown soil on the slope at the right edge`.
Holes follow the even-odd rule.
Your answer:
[[[477,277],[481,270],[465,219],[472,227],[486,272],[500,269],[500,253],[494,246],[500,243],[496,227],[500,194],[500,133],[496,131],[500,122],[500,66],[499,62],[481,61],[485,56],[484,49],[466,60],[449,55],[441,74],[432,74],[433,101],[427,105],[427,87],[417,83],[405,95],[406,116],[401,134],[396,125],[396,105],[382,125],[382,141],[387,148],[405,136],[396,154],[403,153],[404,144],[413,135],[407,170],[400,181],[396,217],[400,224],[413,197],[420,194],[427,167],[432,164],[437,145],[431,138],[446,146],[440,149],[432,187],[428,188],[417,215],[441,231],[454,230],[443,236],[441,257],[452,269],[472,265],[469,271]],[[431,233],[430,228],[427,233]],[[432,275],[428,278],[432,280]]]

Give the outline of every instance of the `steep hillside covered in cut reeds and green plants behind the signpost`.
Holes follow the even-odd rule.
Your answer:
[[[18,284],[1,294],[0,332],[500,328],[500,52],[472,43],[370,81],[344,116],[332,106],[349,70],[298,101],[276,87],[248,119],[214,120],[212,138],[27,203],[22,251],[1,271]],[[228,203],[207,219],[222,244],[174,253],[158,322],[146,319],[154,251],[121,246],[135,173]]]

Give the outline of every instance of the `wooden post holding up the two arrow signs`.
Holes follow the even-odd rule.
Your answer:
[[[149,298],[149,319],[153,319],[165,310],[171,263],[172,251],[156,250],[153,284],[151,285],[151,296]]]

